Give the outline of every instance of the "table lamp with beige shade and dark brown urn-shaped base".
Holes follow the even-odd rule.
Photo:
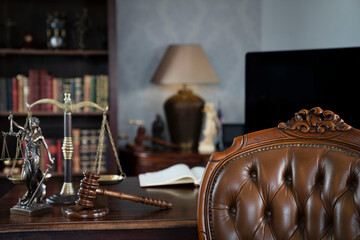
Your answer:
[[[186,85],[219,82],[202,47],[170,45],[151,82],[183,85],[182,89],[165,101],[165,116],[171,141],[185,151],[197,149],[204,101]]]

